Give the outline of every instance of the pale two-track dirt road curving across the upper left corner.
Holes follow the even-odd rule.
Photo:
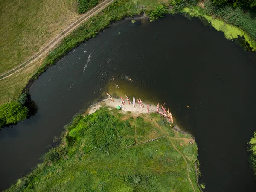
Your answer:
[[[24,69],[25,67],[29,66],[33,62],[37,61],[38,58],[41,58],[42,55],[46,54],[50,49],[54,48],[66,35],[68,35],[71,31],[76,29],[81,23],[84,21],[90,19],[93,15],[96,15],[98,12],[100,12],[102,9],[107,7],[109,4],[111,4],[115,0],[104,0],[102,3],[99,3],[97,6],[95,6],[93,9],[90,9],[85,14],[81,15],[75,22],[67,26],[60,34],[55,36],[49,43],[43,47],[41,50],[39,50],[35,55],[33,55],[28,60],[24,61],[22,64],[18,65],[17,67],[12,68],[11,70],[0,74],[0,80],[5,79],[9,76],[12,76],[13,74],[17,73],[18,71]],[[12,72],[12,73],[11,73]],[[10,73],[9,75],[6,75]],[[5,76],[6,75],[6,76]],[[2,78],[1,78],[2,77]]]

